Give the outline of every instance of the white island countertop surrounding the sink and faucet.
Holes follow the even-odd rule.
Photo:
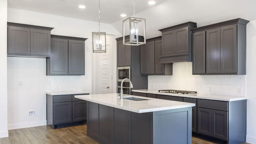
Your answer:
[[[132,95],[124,94],[125,97],[131,97]],[[106,106],[127,110],[130,112],[144,113],[144,112],[155,112],[162,110],[172,110],[178,108],[187,108],[195,106],[195,104],[188,102],[177,102],[172,100],[162,100],[156,98],[147,98],[142,96],[132,96],[136,98],[143,98],[147,100],[134,101],[120,99],[119,94],[90,94],[90,95],[76,95],[75,98],[87,100],[89,102],[95,102]]]

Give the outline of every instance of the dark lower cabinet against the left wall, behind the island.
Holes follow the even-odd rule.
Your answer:
[[[74,96],[74,94],[46,95],[47,125],[51,128],[59,128],[85,123],[86,101]]]

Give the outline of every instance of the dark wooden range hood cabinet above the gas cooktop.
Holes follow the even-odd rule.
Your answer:
[[[186,22],[160,30],[162,32],[160,64],[192,61],[191,28],[196,28],[196,23]]]

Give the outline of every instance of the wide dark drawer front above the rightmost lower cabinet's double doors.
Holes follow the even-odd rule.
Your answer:
[[[198,99],[197,106],[201,108],[228,111],[228,102],[224,101]]]

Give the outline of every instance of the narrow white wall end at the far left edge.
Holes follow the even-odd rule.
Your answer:
[[[0,138],[8,136],[7,130],[7,0],[0,1]]]

